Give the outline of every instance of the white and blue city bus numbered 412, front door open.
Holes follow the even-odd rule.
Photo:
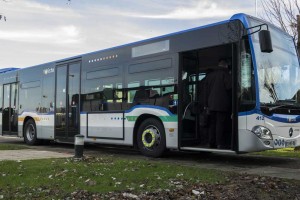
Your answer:
[[[231,68],[223,149],[208,146],[201,86]],[[260,19],[229,20],[24,69],[0,71],[0,131],[41,140],[245,153],[300,145],[300,70],[292,38]]]

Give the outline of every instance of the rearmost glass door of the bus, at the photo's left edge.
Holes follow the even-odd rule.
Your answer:
[[[18,134],[18,83],[4,85],[3,88],[3,134]]]

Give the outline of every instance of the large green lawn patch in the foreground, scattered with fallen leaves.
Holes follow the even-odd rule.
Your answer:
[[[112,156],[83,161],[2,161],[0,169],[0,194],[7,199],[57,199],[77,190],[154,191],[176,188],[182,181],[189,184],[225,181],[224,173],[215,170]]]

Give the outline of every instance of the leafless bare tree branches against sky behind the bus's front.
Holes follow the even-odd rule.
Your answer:
[[[280,26],[298,42],[297,15],[300,14],[300,0],[261,0],[264,10],[262,18]]]

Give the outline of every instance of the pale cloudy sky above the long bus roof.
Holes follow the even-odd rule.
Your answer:
[[[255,15],[255,0],[1,0],[0,13],[0,68],[23,68]]]

